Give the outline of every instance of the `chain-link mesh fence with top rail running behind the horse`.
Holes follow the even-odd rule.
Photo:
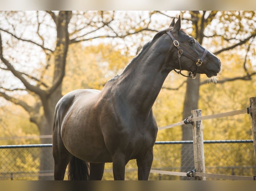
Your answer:
[[[49,150],[51,144],[0,146],[0,180],[52,180],[53,158]],[[207,173],[256,175],[252,140],[205,141],[204,151]],[[42,159],[44,161],[40,162]],[[193,170],[193,141],[156,142],[152,169],[177,172]],[[125,179],[137,180],[136,160],[131,160],[126,165]],[[150,173],[149,179],[193,180],[194,178]],[[103,180],[113,180],[112,163],[106,163]]]

